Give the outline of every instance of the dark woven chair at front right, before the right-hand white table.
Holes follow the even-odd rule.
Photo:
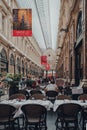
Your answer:
[[[61,104],[57,108],[57,119],[55,122],[56,130],[69,130],[69,128],[78,130],[78,115],[80,112],[82,113],[82,110],[83,109],[79,104]]]

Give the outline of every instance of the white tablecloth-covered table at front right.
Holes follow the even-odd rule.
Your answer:
[[[65,103],[76,103],[76,104],[81,105],[84,108],[87,108],[87,100],[85,100],[85,102],[83,102],[82,100],[65,99],[65,100],[55,100],[54,105],[53,105],[53,111],[55,112],[61,104],[65,104]]]

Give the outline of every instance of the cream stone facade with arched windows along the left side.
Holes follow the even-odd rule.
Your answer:
[[[42,73],[42,52],[34,36],[12,36],[13,8],[18,8],[16,0],[0,1],[0,74],[20,73],[26,76],[31,73],[39,76]]]

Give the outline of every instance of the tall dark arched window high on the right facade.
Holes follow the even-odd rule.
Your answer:
[[[78,19],[77,19],[77,29],[76,29],[76,37],[77,39],[82,33],[82,11],[79,12]]]

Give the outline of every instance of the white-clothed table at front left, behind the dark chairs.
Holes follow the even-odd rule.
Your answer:
[[[53,108],[53,104],[49,100],[21,100],[19,101],[17,99],[14,99],[14,100],[3,100],[1,103],[10,104],[14,106],[15,108],[17,108],[14,118],[22,114],[21,107],[25,104],[40,104],[44,106],[47,110],[50,110],[51,108]]]

